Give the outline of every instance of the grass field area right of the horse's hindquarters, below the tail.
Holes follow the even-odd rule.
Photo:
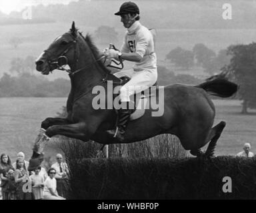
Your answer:
[[[256,154],[256,110],[241,114],[241,101],[215,100],[215,123],[225,120],[227,126],[217,143],[216,154],[237,154],[245,142],[251,143],[251,151]]]

